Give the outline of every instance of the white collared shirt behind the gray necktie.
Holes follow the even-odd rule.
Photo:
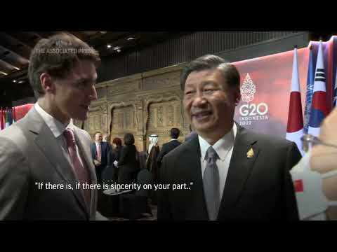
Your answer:
[[[235,137],[237,136],[237,125],[233,123],[232,130],[225,134],[221,139],[213,144],[213,149],[218,154],[219,158],[216,160],[216,165],[218,166],[219,176],[220,176],[220,199],[223,197],[223,189],[225,188],[225,182],[227,179],[228,168],[230,167],[230,158],[232,158],[232,152],[234,147]],[[204,179],[204,171],[206,169],[207,161],[205,155],[207,149],[211,146],[202,137],[199,137],[200,153],[201,153],[201,174]]]

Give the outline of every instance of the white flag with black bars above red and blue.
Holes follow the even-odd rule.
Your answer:
[[[322,41],[318,45],[318,55],[315,70],[314,92],[309,120],[308,133],[318,137],[322,120],[327,115],[326,85]]]

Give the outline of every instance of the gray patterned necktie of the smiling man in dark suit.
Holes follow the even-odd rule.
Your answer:
[[[204,171],[204,193],[209,220],[216,221],[220,207],[220,176],[216,160],[219,158],[213,147],[210,146],[206,152],[206,169]]]

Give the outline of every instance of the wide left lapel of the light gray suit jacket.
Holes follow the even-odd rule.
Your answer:
[[[30,113],[27,114],[27,120],[32,120],[34,123],[29,123],[29,130],[37,134],[34,142],[39,146],[40,150],[51,165],[54,167],[56,172],[61,176],[61,178],[66,182],[72,184],[74,187],[77,179],[72,170],[72,166],[69,162],[67,162],[64,155],[62,155],[62,149],[58,145],[53,133],[49,129],[49,127],[44,123],[44,120],[41,118],[39,113],[35,109],[31,109]],[[79,190],[71,190],[74,193],[77,201],[83,207],[83,209],[88,213],[88,209],[86,207],[86,203],[84,202],[84,197],[81,195],[81,191]]]

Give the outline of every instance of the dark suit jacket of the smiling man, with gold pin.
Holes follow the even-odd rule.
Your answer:
[[[247,158],[250,148],[253,158]],[[160,190],[159,221],[209,219],[200,156],[199,139],[195,137],[164,157],[161,183],[187,183],[190,190]],[[218,220],[298,220],[289,170],[300,158],[293,142],[256,134],[237,125]]]

